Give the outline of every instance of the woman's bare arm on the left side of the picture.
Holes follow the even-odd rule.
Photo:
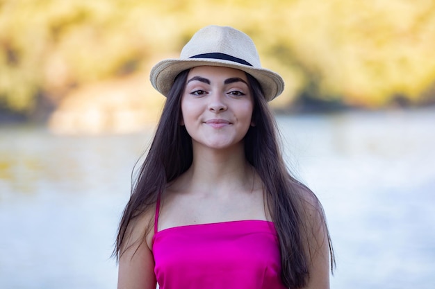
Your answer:
[[[155,289],[156,276],[154,274],[154,257],[149,247],[147,236],[144,240],[145,231],[149,226],[147,214],[139,217],[136,222],[129,225],[129,235],[122,245],[118,267],[118,289]]]

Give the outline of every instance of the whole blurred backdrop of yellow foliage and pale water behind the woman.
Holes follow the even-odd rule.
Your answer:
[[[149,70],[233,26],[286,89],[288,166],[325,207],[331,288],[435,283],[435,3],[0,0],[0,288],[116,288]]]

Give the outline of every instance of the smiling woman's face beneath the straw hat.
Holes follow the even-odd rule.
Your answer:
[[[190,69],[181,98],[181,123],[195,146],[241,145],[252,124],[253,108],[245,72],[228,67]]]

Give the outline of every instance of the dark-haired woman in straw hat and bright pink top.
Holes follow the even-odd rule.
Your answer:
[[[120,222],[118,288],[329,288],[322,206],[268,108],[284,81],[252,40],[207,26],[150,79],[167,100]]]

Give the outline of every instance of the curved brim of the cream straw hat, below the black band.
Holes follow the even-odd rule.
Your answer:
[[[204,60],[190,58],[188,60],[167,59],[158,62],[152,69],[149,75],[151,85],[159,91],[163,96],[167,96],[174,84],[175,77],[186,69],[199,66],[214,66],[214,67],[230,67],[240,69],[249,73],[256,78],[263,89],[265,99],[270,101],[279,96],[284,90],[284,80],[278,73],[269,69],[250,67],[244,64],[238,64],[229,60],[210,59]]]

